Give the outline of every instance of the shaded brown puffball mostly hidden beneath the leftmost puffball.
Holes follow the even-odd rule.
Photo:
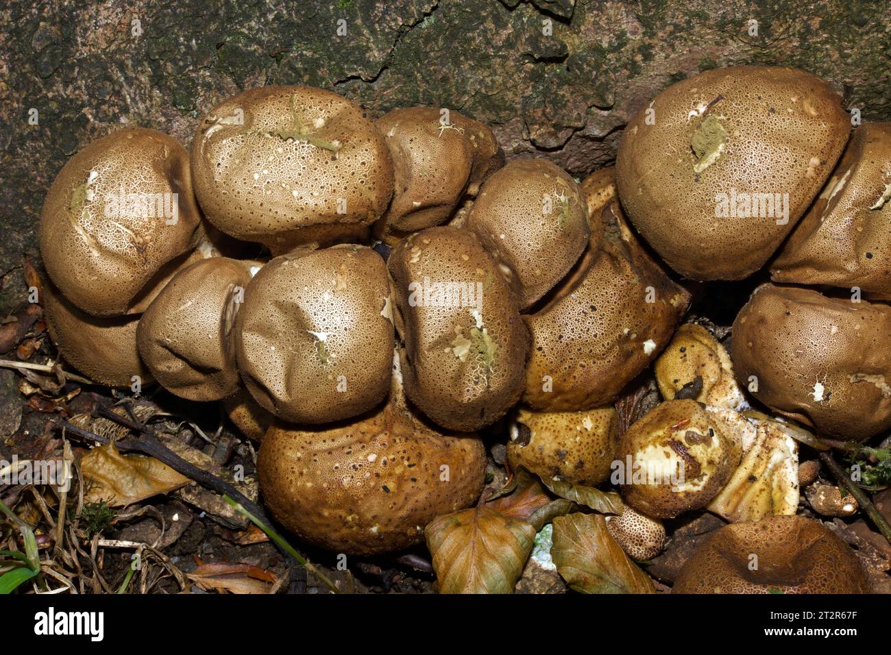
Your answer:
[[[129,387],[134,376],[142,385],[152,381],[136,348],[139,315],[101,318],[86,314],[49,280],[44,280],[40,301],[50,337],[78,371],[110,387]]]

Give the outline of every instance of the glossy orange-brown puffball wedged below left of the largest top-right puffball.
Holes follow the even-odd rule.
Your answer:
[[[539,311],[523,400],[537,410],[606,405],[665,348],[690,301],[625,225],[616,200],[601,209],[605,237]],[[651,302],[650,302],[651,300]]]

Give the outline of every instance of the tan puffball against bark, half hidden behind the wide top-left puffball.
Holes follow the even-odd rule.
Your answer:
[[[394,168],[394,192],[376,233],[395,245],[400,237],[446,223],[465,194],[501,168],[504,152],[492,130],[457,111],[396,109],[376,125]]]

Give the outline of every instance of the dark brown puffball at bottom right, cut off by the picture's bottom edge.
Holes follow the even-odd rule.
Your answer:
[[[845,542],[803,516],[724,526],[696,549],[672,589],[673,594],[776,592],[869,594],[871,589]]]

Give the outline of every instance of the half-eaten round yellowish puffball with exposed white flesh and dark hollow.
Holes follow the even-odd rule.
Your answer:
[[[625,503],[666,519],[705,507],[739,465],[741,444],[703,405],[669,400],[628,428],[618,453]]]

